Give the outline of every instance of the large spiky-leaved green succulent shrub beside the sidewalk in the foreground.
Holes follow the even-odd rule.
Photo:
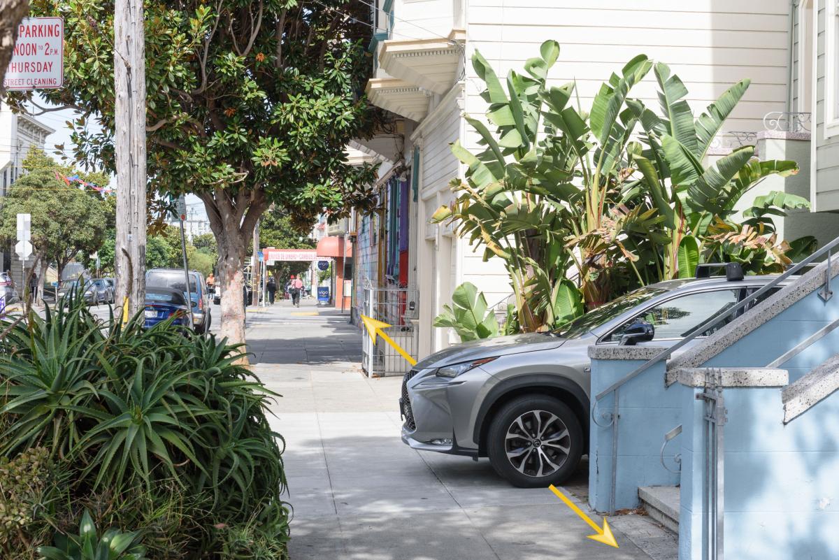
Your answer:
[[[142,314],[102,321],[72,297],[28,319],[0,340],[0,453],[30,461],[43,448],[35,456],[61,470],[49,525],[69,534],[83,507],[99,526],[140,531],[155,560],[239,557],[218,552],[242,548],[231,542],[283,557],[277,395],[235,363],[239,347],[169,322],[143,329]],[[43,536],[31,517],[18,526]]]

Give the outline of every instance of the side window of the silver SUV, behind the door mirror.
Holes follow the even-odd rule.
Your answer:
[[[638,320],[646,321],[654,326],[655,336],[653,340],[684,338],[706,320],[737,305],[741,296],[740,292],[740,289],[724,289],[688,293],[680,298],[670,299],[628,320],[612,332],[607,340],[621,340],[621,336],[628,326]],[[717,329],[721,329],[732,319],[733,317],[728,317],[722,323],[703,332],[701,336],[708,336]]]

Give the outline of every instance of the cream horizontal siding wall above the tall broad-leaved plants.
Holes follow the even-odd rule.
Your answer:
[[[523,5],[524,4],[524,5]],[[727,131],[763,130],[763,116],[785,111],[789,84],[789,0],[469,0],[466,50],[481,51],[499,76],[523,71],[546,39],[560,42],[551,85],[576,80],[589,108],[603,81],[637,54],[666,62],[685,82],[696,114],[737,80],[749,78]],[[481,81],[467,69],[466,110],[485,109]],[[631,96],[659,106],[652,72]],[[470,137],[474,138],[472,135]],[[469,144],[475,148],[475,144]]]

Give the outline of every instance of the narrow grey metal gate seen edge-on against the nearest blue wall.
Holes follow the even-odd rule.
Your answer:
[[[722,370],[705,372],[705,389],[696,395],[703,403],[705,438],[705,479],[702,491],[702,558],[723,560],[723,519],[725,515],[725,398],[722,396]]]

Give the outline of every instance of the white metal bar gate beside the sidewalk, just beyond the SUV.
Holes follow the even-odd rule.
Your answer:
[[[418,338],[416,318],[419,310],[418,292],[409,288],[365,288],[362,314],[392,326],[385,329],[394,343],[414,360],[417,359]],[[402,376],[410,364],[399,352],[381,337],[373,344],[365,335],[362,367],[367,376]]]

